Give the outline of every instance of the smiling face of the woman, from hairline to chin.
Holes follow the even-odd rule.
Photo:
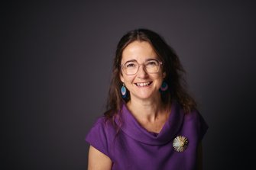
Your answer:
[[[124,72],[125,70],[122,69],[120,75],[121,81],[125,83],[125,87],[130,91],[131,100],[159,97],[159,88],[165,77],[165,72],[162,72],[161,65],[158,72],[147,72],[147,70],[151,70],[151,66],[154,67],[155,61],[159,61],[159,59],[151,44],[147,41],[134,41],[123,50],[122,67],[125,65],[125,68],[133,69],[132,67],[137,63],[139,64],[136,74],[127,75]],[[148,69],[146,69],[146,66]]]

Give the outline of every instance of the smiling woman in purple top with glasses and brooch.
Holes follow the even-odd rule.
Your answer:
[[[108,109],[86,136],[89,169],[200,169],[207,130],[186,92],[183,67],[152,30],[118,43]]]

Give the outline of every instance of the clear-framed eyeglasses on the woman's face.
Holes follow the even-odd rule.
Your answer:
[[[122,64],[122,70],[125,72],[126,75],[135,75],[138,73],[138,69],[140,66],[144,66],[144,69],[146,69],[147,73],[157,73],[159,72],[160,65],[163,63],[160,61],[157,61],[156,59],[148,60],[145,63],[139,64],[137,61],[128,61],[125,64]]]

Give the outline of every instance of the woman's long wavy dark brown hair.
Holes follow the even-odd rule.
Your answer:
[[[161,93],[162,102],[164,104],[171,104],[172,101],[177,101],[186,113],[196,109],[196,101],[186,90],[186,81],[184,78],[186,72],[174,50],[156,32],[147,29],[136,29],[129,31],[118,42],[112,66],[112,80],[109,86],[105,117],[107,119],[114,118],[118,111],[120,111],[122,104],[130,100],[128,90],[128,97],[125,99],[122,98],[120,91],[123,84],[120,80],[120,74],[122,74],[121,60],[125,47],[136,40],[150,43],[163,63],[162,69],[163,72],[166,72],[164,82],[167,83],[168,89]]]

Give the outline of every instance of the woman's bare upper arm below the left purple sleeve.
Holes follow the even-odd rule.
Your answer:
[[[112,161],[104,153],[89,146],[88,170],[111,170]]]

